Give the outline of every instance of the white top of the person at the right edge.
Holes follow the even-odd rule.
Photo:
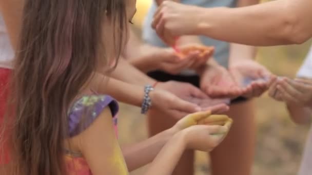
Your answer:
[[[297,77],[312,78],[312,47],[301,65]],[[306,139],[306,145],[303,152],[303,158],[300,165],[298,175],[311,175],[312,174],[312,129]]]

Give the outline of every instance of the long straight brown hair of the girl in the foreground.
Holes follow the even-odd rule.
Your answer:
[[[110,62],[102,42],[105,24],[120,31],[111,34],[118,58],[126,0],[25,1],[12,76],[12,174],[66,174],[67,112],[98,65]]]

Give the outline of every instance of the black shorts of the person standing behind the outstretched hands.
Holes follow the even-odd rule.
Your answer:
[[[171,75],[162,71],[149,72],[147,75],[161,82],[174,80],[174,81],[188,82],[198,88],[200,86],[200,77],[198,75],[191,75],[191,76]],[[247,100],[248,99],[245,97],[238,97],[236,99],[231,100],[231,103],[240,103],[240,102],[245,102]]]

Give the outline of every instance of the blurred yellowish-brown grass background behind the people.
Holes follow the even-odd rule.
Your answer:
[[[135,28],[140,30],[151,0],[137,0],[138,12],[134,17]],[[300,67],[311,41],[300,46],[259,48],[257,61],[272,73],[294,77]],[[253,175],[293,175],[298,171],[305,143],[307,126],[298,126],[290,121],[283,103],[270,99],[267,94],[256,100],[257,137]],[[120,142],[122,145],[147,138],[146,120],[137,107],[121,105],[119,118]],[[203,152],[196,155],[196,175],[209,174],[209,159]],[[144,168],[131,172],[139,175]]]

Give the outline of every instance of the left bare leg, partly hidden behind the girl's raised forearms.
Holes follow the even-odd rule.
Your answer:
[[[153,136],[165,129],[172,127],[178,120],[174,120],[166,115],[152,114],[148,115],[149,136]],[[173,175],[192,175],[194,173],[194,151],[185,151],[180,162],[173,171]]]

